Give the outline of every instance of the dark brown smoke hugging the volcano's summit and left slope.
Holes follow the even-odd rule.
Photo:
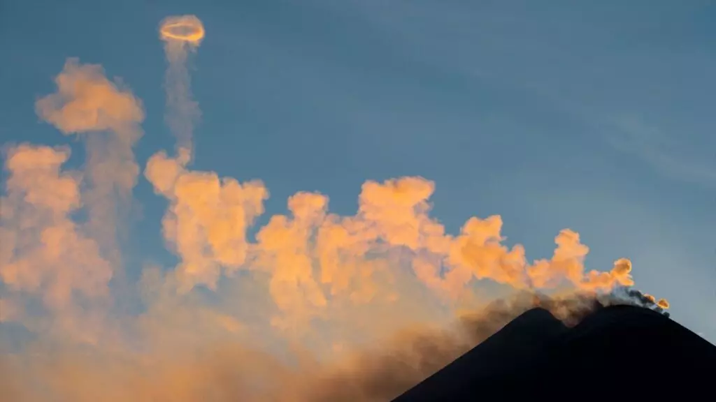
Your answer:
[[[549,310],[574,326],[609,305],[638,305],[667,315],[638,290],[620,289],[609,295],[574,294],[564,298],[520,293],[463,315],[453,330],[425,330],[398,337],[380,350],[363,350],[354,364],[311,383],[304,401],[390,401],[440,368],[482,343],[522,313],[535,307]]]

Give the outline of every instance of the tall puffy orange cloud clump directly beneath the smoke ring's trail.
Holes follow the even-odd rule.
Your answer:
[[[261,182],[241,184],[213,172],[190,172],[164,153],[147,162],[147,179],[170,205],[163,218],[165,240],[180,256],[182,289],[216,287],[222,269],[246,261],[246,230],[263,212],[269,192]]]

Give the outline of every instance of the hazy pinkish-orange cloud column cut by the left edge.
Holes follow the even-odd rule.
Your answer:
[[[90,340],[94,334],[84,331],[96,328],[87,328],[92,319],[82,305],[108,297],[112,268],[72,220],[82,201],[79,175],[62,171],[68,158],[67,148],[21,144],[6,151],[0,279],[10,290],[3,301],[13,308],[4,319],[26,320],[22,296],[31,295],[53,318],[46,330]]]

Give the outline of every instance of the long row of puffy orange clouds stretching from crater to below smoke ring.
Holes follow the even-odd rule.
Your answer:
[[[289,215],[274,215],[250,242],[247,230],[263,212],[269,193],[261,182],[241,184],[215,173],[194,172],[158,153],[145,175],[167,197],[165,240],[181,258],[180,288],[216,289],[222,273],[259,271],[270,276],[268,291],[280,326],[331,317],[347,305],[391,303],[405,294],[400,280],[418,280],[441,298],[457,300],[473,280],[493,280],[515,289],[609,292],[632,285],[631,263],[617,260],[608,272],[584,268],[589,247],[579,234],[562,230],[549,260],[530,264],[524,247],[502,244],[502,219],[471,217],[453,236],[430,217],[434,183],[422,177],[366,182],[354,216],[329,212],[328,197],[299,192]],[[413,276],[405,276],[405,270]],[[289,324],[291,323],[291,324]]]

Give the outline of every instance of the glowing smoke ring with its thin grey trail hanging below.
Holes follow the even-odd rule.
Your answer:
[[[167,94],[166,122],[177,139],[177,155],[186,164],[193,155],[192,136],[199,105],[191,99],[190,77],[187,70],[189,52],[195,52],[204,39],[204,26],[193,15],[169,16],[159,28],[164,41],[168,67],[165,76]]]

